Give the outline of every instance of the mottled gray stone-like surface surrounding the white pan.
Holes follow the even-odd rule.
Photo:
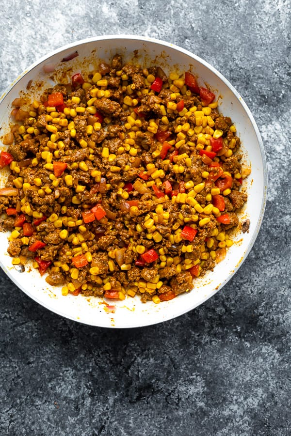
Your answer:
[[[39,57],[86,37],[132,33],[191,50],[241,93],[269,171],[247,260],[178,319],[79,325],[1,273],[0,434],[291,435],[290,2],[4,0],[0,17],[0,93]]]

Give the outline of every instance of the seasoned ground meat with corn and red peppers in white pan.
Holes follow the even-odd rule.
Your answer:
[[[224,259],[248,171],[231,119],[190,71],[116,54],[13,105],[0,229],[14,265],[31,259],[63,295],[159,303]]]

